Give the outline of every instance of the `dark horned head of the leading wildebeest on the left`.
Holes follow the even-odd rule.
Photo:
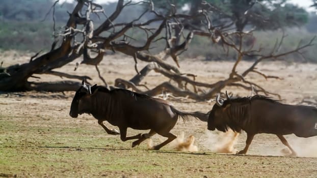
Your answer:
[[[94,85],[95,86],[95,85]],[[82,114],[85,109],[85,100],[89,99],[92,95],[92,88],[94,86],[86,85],[85,79],[82,81],[82,86],[77,90],[73,101],[71,102],[69,115],[71,117],[77,117],[78,114]]]

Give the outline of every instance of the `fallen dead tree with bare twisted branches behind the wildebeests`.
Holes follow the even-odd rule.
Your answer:
[[[57,3],[55,3],[52,8],[55,8],[56,4]],[[140,4],[146,5],[148,8],[145,8],[139,18],[128,23],[114,23],[115,19],[125,7],[138,6]],[[253,91],[255,94],[263,93],[270,95],[272,93],[265,88],[249,81],[247,75],[253,72],[263,76],[265,79],[279,79],[277,76],[268,76],[258,71],[256,66],[265,60],[272,58],[280,59],[295,52],[301,53],[302,49],[312,45],[313,39],[306,44],[299,43],[294,50],[279,52],[285,37],[283,36],[281,40],[276,42],[271,52],[267,54],[263,54],[261,48],[254,50],[253,45],[246,48],[243,45],[243,41],[246,37],[252,36],[252,32],[228,32],[230,23],[213,26],[212,16],[209,15],[211,6],[205,2],[203,2],[203,5],[202,9],[189,15],[177,13],[176,8],[170,4],[170,11],[166,14],[161,14],[155,10],[154,4],[151,1],[124,3],[123,0],[119,0],[116,10],[110,16],[107,16],[102,6],[88,0],[78,0],[73,11],[69,13],[69,19],[65,27],[59,32],[55,29],[55,42],[52,44],[49,52],[40,56],[38,56],[38,54],[33,56],[29,63],[0,69],[0,91],[74,91],[78,85],[80,85],[82,79],[91,78],[86,75],[69,75],[67,73],[57,72],[54,69],[61,68],[78,57],[83,57],[83,61],[80,65],[94,66],[99,74],[99,78],[103,81],[105,86],[108,86],[107,82],[100,75],[98,64],[103,60],[103,56],[106,54],[105,51],[112,50],[133,58],[135,61],[134,68],[136,70],[136,75],[128,81],[119,78],[116,79],[116,87],[130,88],[131,90],[150,96],[165,92],[172,93],[174,96],[189,97],[194,100],[209,100],[225,86],[237,86],[245,90]],[[154,17],[147,21],[141,21],[140,19],[147,13],[154,14]],[[91,20],[91,14],[96,14],[98,17],[102,15],[105,20],[96,27]],[[196,27],[193,27],[189,25],[191,20],[197,17],[204,19],[201,21],[200,26],[196,25]],[[153,27],[156,24],[159,25]],[[146,34],[147,38],[143,45],[138,46],[129,42],[134,40],[127,35],[127,32],[131,29],[139,29]],[[208,38],[215,44],[221,43],[224,52],[229,49],[236,52],[236,61],[231,73],[228,74],[228,78],[216,83],[204,83],[196,81],[195,74],[181,72],[178,64],[179,55],[188,49],[194,36]],[[165,49],[152,54],[150,52],[151,46],[154,46],[155,43],[160,40],[165,41]],[[56,47],[58,44],[59,47]],[[252,56],[255,61],[247,70],[237,72],[236,67],[244,56]],[[175,65],[167,63],[166,58],[168,57],[173,59]],[[139,70],[139,60],[148,62],[149,64]],[[158,84],[154,88],[148,88],[144,84],[142,85],[142,79],[144,79],[151,70],[161,73],[170,80]],[[53,83],[28,81],[34,74],[56,75],[79,81],[67,80]],[[173,85],[170,81],[177,83],[177,86]],[[189,87],[189,85],[191,87]],[[140,87],[142,87],[142,89]],[[207,92],[201,92],[202,90],[199,88],[204,88],[204,91]]]

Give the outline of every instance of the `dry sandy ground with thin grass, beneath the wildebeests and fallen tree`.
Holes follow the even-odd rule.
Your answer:
[[[30,56],[11,52],[1,54],[0,59],[4,66],[9,66],[27,62]],[[88,75],[93,78],[92,84],[102,84],[93,66],[81,65],[73,71],[76,62],[80,60],[58,71]],[[140,62],[139,69],[145,65]],[[207,62],[196,58],[180,61],[180,70],[196,74],[197,81],[214,83],[226,78],[232,65],[233,62]],[[252,63],[243,62],[237,70],[243,71],[250,65]],[[119,55],[107,56],[99,69],[108,84],[113,84],[116,78],[128,80],[136,74],[133,59]],[[251,74],[247,79],[280,94],[283,103],[317,100],[317,65],[265,62],[259,64],[258,69],[281,79],[265,80],[258,74]],[[41,75],[40,80],[63,79]],[[142,84],[152,88],[167,80],[152,71]],[[236,87],[225,90],[239,96],[251,94]],[[74,92],[0,95],[0,177],[317,177],[317,137],[287,135],[286,139],[298,152],[296,158],[287,157],[285,146],[270,134],[256,135],[246,156],[216,154],[224,134],[207,131],[206,123],[193,120],[179,121],[172,132],[184,133],[186,137],[194,135],[197,152],[178,152],[172,145],[163,147],[162,151],[149,151],[146,142],[132,149],[131,141],[121,142],[119,136],[107,135],[92,116],[83,114],[71,118],[68,113],[73,95]],[[186,111],[207,112],[214,105],[214,101],[168,100]],[[140,132],[146,131],[128,130],[128,135]],[[155,143],[163,139],[157,135],[152,138]],[[242,133],[234,149],[243,149],[245,139],[246,134]]]

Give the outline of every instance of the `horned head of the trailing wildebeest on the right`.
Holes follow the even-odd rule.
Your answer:
[[[208,117],[208,130],[214,131],[215,129],[219,131],[226,132],[227,127],[227,109],[230,106],[230,97],[226,91],[227,99],[221,99],[220,94],[216,97],[216,104],[213,106],[213,109],[209,113]]]

